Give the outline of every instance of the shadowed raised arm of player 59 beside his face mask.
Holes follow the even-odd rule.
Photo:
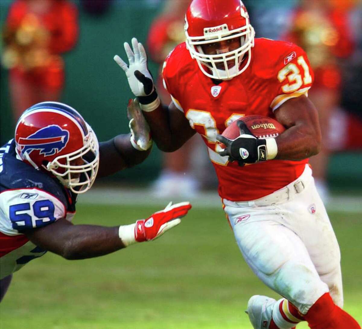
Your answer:
[[[97,177],[103,177],[143,162],[150,154],[151,148],[138,151],[130,142],[130,134],[122,134],[101,142],[99,150],[100,166]]]

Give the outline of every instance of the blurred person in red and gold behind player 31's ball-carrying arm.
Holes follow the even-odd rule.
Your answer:
[[[321,197],[328,199],[328,187],[325,181],[328,157],[333,150],[333,134],[335,142],[345,142],[341,120],[343,114],[338,110],[341,104],[344,61],[354,51],[354,41],[350,32],[349,10],[357,1],[313,1],[302,0],[292,14],[290,30],[285,39],[298,44],[308,55],[315,73],[315,81],[308,97],[319,111],[322,132],[322,149],[318,155],[310,159],[316,187]],[[339,127],[334,118],[340,118]],[[337,136],[336,136],[336,132]],[[340,145],[341,146],[341,145]]]

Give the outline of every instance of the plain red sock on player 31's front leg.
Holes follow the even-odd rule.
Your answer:
[[[328,292],[312,305],[304,319],[311,329],[361,329],[352,316],[333,303]]]

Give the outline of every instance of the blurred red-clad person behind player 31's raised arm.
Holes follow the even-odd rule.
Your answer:
[[[162,65],[169,52],[186,39],[184,23],[189,3],[190,0],[165,1],[163,12],[152,22],[148,34],[148,54],[153,61],[160,64],[156,88],[164,105],[170,104],[171,97],[163,86]],[[198,191],[199,181],[191,170],[191,155],[197,142],[198,139],[194,136],[181,149],[163,154],[163,170],[153,184],[157,196],[189,196]]]

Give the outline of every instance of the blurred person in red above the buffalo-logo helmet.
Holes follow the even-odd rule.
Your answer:
[[[77,40],[77,9],[66,0],[17,0],[3,29],[2,63],[9,69],[13,116],[32,104],[58,101],[64,85],[60,54]]]

